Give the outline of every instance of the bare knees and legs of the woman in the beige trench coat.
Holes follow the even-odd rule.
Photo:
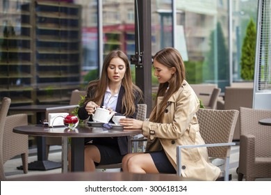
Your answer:
[[[122,161],[125,166],[124,171],[130,173],[159,173],[151,155],[148,153],[132,153],[126,155],[124,161]]]

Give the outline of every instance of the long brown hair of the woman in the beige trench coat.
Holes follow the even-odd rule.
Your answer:
[[[166,47],[154,55],[154,60],[165,65],[167,68],[176,68],[174,75],[166,83],[159,84],[156,95],[156,105],[151,112],[149,120],[156,123],[162,123],[164,111],[167,107],[167,100],[176,93],[181,87],[183,80],[186,79],[186,71],[184,68],[183,59],[177,49]],[[167,89],[168,88],[168,89]],[[157,110],[157,98],[163,97],[161,102],[161,110]]]

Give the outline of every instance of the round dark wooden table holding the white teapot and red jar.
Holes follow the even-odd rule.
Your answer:
[[[18,134],[28,134],[40,137],[62,137],[66,143],[63,144],[63,154],[67,155],[67,137],[71,137],[71,171],[84,171],[84,146],[85,137],[128,137],[141,134],[142,130],[123,130],[123,128],[112,128],[110,130],[101,126],[79,124],[74,130],[67,127],[43,127],[42,125],[24,125],[13,128]],[[128,141],[128,149],[131,152],[131,141]],[[67,158],[64,157],[64,158]],[[65,162],[65,160],[63,160]],[[67,161],[66,161],[67,162]],[[66,166],[64,166],[66,167]],[[66,171],[64,171],[66,172]]]

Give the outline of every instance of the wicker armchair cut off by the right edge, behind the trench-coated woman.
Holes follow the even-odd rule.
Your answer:
[[[271,127],[258,124],[263,118],[271,111],[240,107],[239,181],[271,177]]]

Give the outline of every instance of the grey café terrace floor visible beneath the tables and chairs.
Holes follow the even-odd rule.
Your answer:
[[[29,150],[28,162],[33,162],[37,160],[36,149]],[[61,162],[61,148],[60,146],[51,146],[50,153],[49,153],[49,160],[54,162]],[[230,157],[230,174],[231,174],[231,181],[237,181],[238,175],[236,173],[236,169],[238,167],[238,160],[239,160],[239,143],[236,142],[236,146],[231,147],[231,157]],[[221,161],[218,160],[214,163],[217,163],[217,166],[221,164]],[[61,169],[52,169],[48,171],[31,171],[28,170],[27,174],[24,174],[22,170],[18,170],[17,166],[22,165],[22,159],[20,157],[15,157],[13,159],[8,160],[4,164],[4,172],[6,174],[6,178],[16,178],[22,176],[31,176],[31,175],[42,175],[42,174],[49,174],[49,173],[61,173]],[[101,170],[99,170],[101,171]],[[256,180],[262,181],[271,181],[271,178],[261,178]]]

